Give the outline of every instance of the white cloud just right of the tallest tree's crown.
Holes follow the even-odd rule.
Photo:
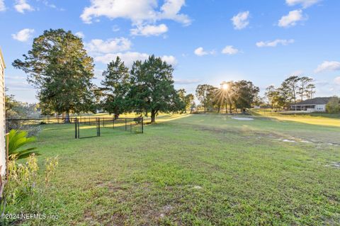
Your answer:
[[[131,41],[127,38],[113,38],[108,40],[93,39],[85,43],[86,50],[94,54],[111,53],[130,50]]]

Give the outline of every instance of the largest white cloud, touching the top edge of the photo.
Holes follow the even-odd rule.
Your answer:
[[[165,0],[160,11],[157,11],[157,0],[91,0],[81,14],[84,23],[91,23],[93,18],[128,18],[134,24],[155,22],[170,19],[188,25],[191,23],[187,15],[179,13],[185,0]]]

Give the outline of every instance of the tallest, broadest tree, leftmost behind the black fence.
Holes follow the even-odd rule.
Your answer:
[[[13,67],[28,74],[43,111],[66,113],[69,122],[69,113],[93,110],[94,62],[81,38],[63,29],[45,30],[23,58],[15,60]]]

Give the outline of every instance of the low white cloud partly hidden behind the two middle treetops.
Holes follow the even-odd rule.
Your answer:
[[[147,53],[141,52],[117,52],[117,53],[108,53],[106,55],[94,57],[96,62],[102,62],[103,64],[108,64],[109,62],[115,60],[115,58],[119,56],[127,67],[131,67],[133,62],[136,60],[147,60],[149,55]],[[166,61],[168,64],[175,65],[177,63],[176,58],[174,56],[166,56],[162,57],[162,60]]]

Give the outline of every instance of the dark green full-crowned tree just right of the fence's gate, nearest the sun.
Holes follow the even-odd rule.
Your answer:
[[[151,113],[155,122],[157,113],[181,111],[185,103],[174,89],[174,68],[160,57],[150,56],[145,62],[136,61],[130,72],[130,99],[135,112]]]

